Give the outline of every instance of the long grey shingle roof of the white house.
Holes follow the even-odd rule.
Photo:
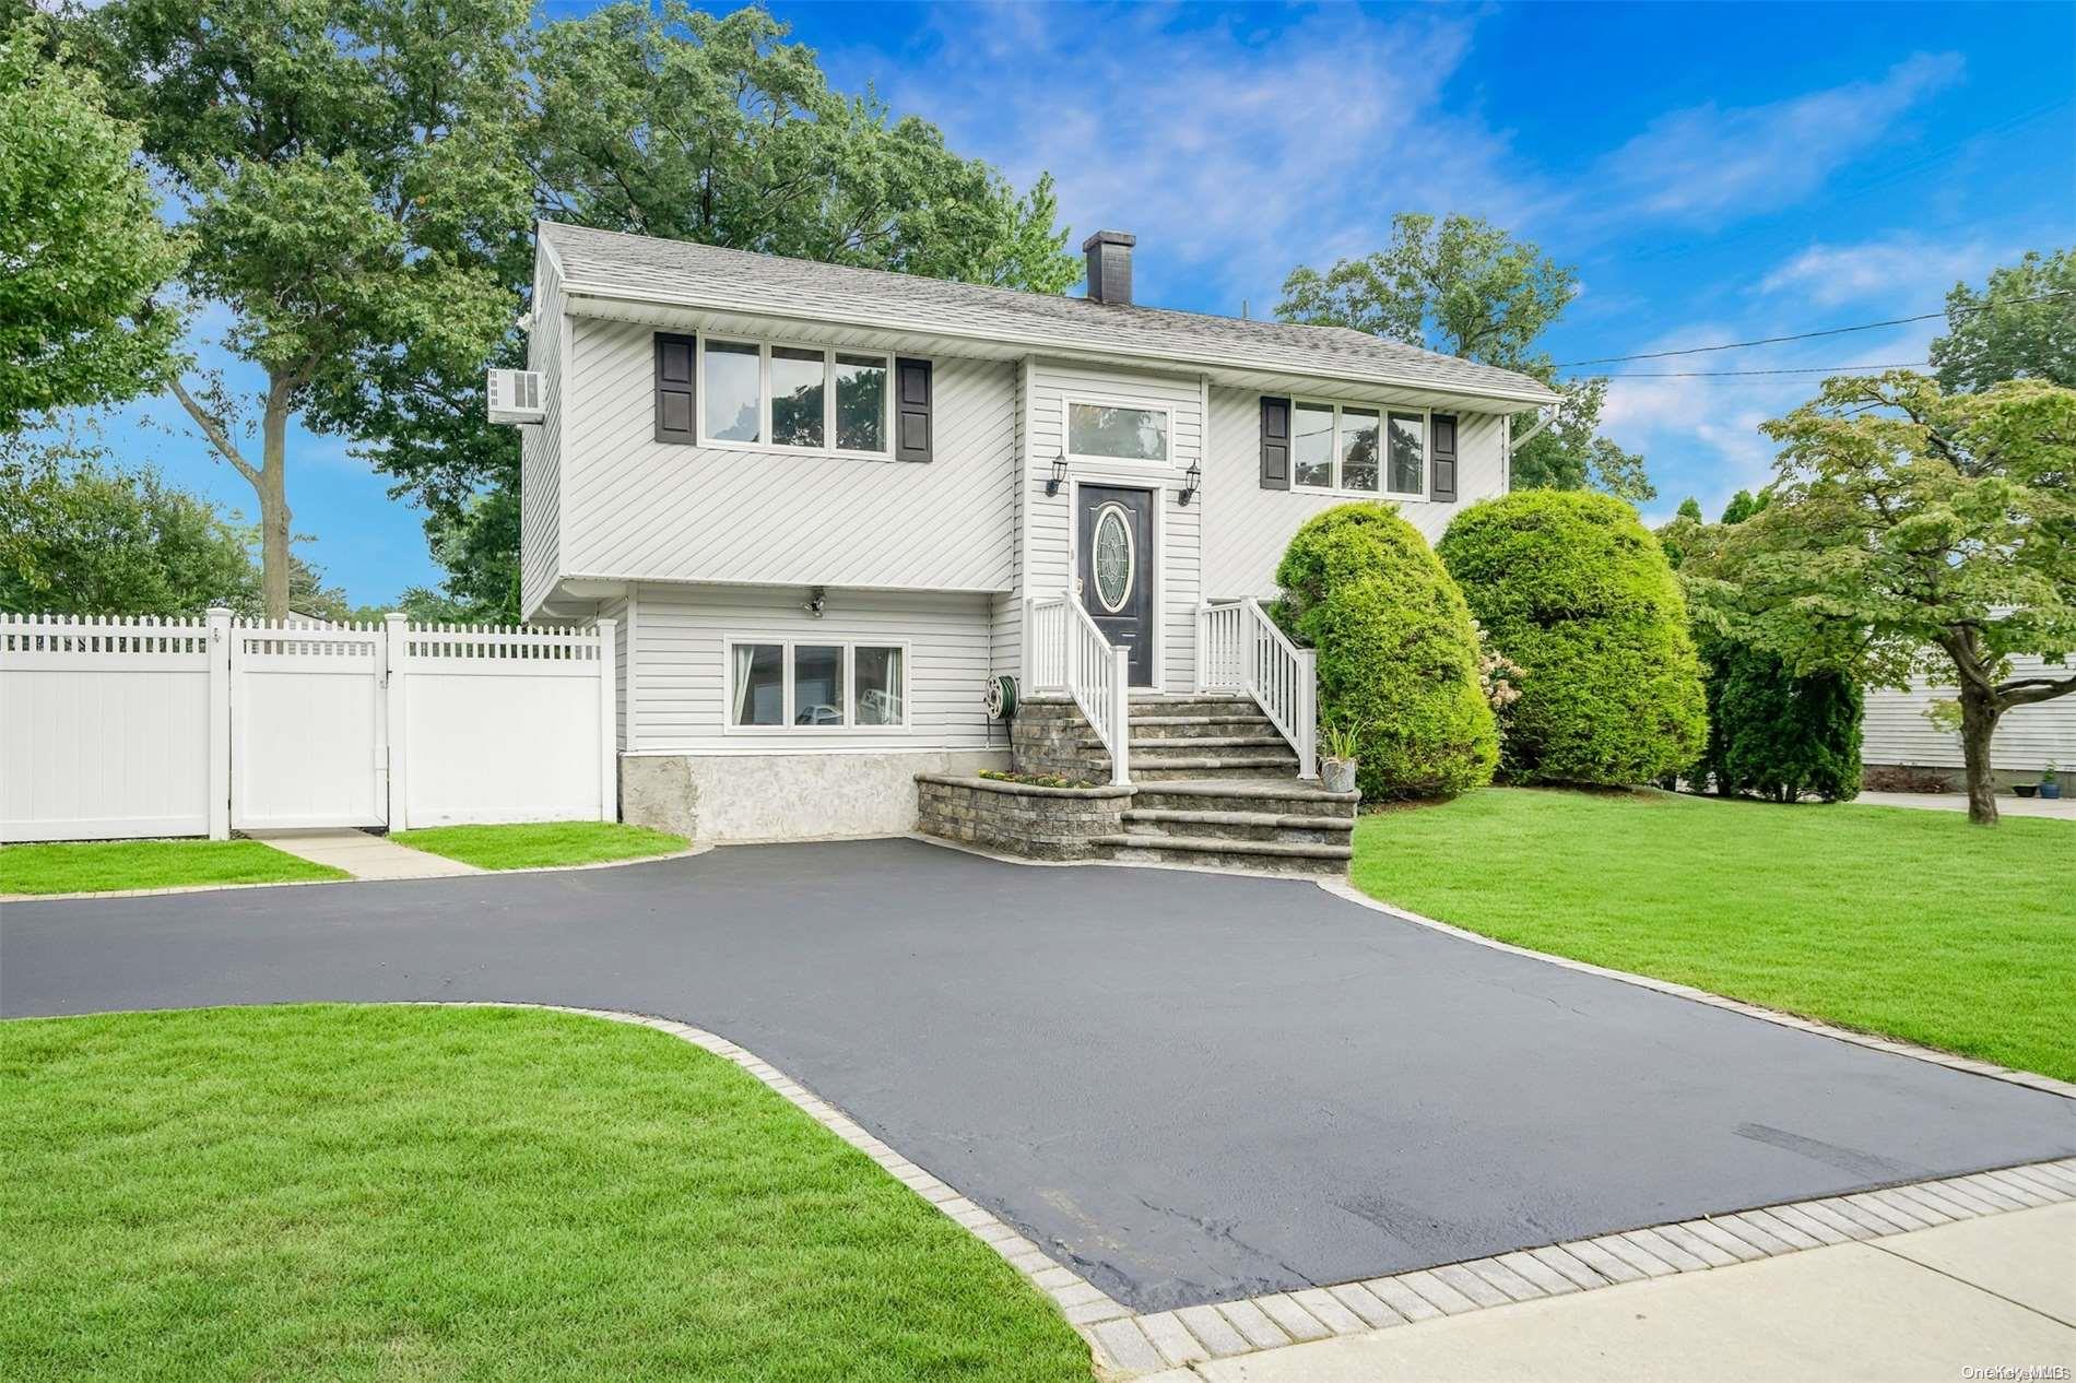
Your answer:
[[[722,311],[812,316],[853,326],[976,336],[1067,353],[1094,351],[1192,365],[1312,374],[1522,403],[1557,399],[1524,374],[1383,341],[1345,326],[1295,326],[1165,307],[1123,307],[1084,297],[1050,297],[785,260],[561,222],[540,222],[540,235],[554,249],[565,289],[571,293]]]

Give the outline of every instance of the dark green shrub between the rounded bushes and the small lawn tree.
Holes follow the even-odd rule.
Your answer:
[[[1709,748],[1688,770],[1698,789],[1773,802],[1860,795],[1860,687],[1841,673],[1796,677],[1775,654],[1702,640]]]

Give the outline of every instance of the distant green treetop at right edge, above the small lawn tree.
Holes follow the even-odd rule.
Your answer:
[[[1947,334],[1933,341],[1931,361],[1947,392],[2005,380],[2076,388],[2076,249],[2028,251],[1991,270],[1981,293],[1954,284]]]

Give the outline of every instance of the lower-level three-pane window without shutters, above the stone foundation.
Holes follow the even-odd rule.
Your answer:
[[[731,729],[905,729],[899,644],[729,644]]]

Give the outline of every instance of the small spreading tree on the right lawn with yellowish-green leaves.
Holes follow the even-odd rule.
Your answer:
[[[1704,575],[1738,588],[1744,635],[1798,673],[1956,685],[1968,816],[1995,822],[1999,716],[2076,692],[2076,667],[2012,671],[2076,650],[2076,390],[1949,395],[1897,370],[1827,380],[1763,430],[1777,480]]]

